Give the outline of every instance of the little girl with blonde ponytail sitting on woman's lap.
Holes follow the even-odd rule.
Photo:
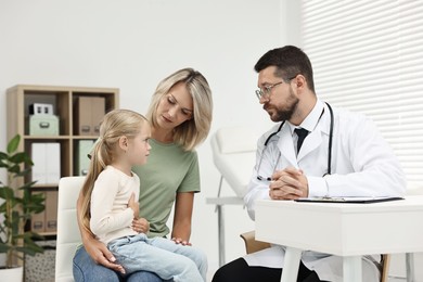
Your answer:
[[[136,112],[114,110],[104,116],[82,187],[81,222],[127,274],[146,270],[164,280],[206,281],[207,259],[200,249],[149,239],[131,228],[132,220],[146,221],[139,218],[140,179],[131,167],[146,163],[150,136],[149,121]]]

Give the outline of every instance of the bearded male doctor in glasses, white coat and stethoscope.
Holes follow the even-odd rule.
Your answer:
[[[361,114],[332,110],[317,98],[311,63],[300,49],[270,50],[255,70],[256,94],[278,124],[258,140],[244,198],[253,220],[260,198],[403,195],[403,172],[376,126]],[[363,281],[380,281],[377,259],[363,257]],[[283,260],[284,247],[273,245],[225,265],[213,282],[277,282]],[[341,257],[304,252],[297,281],[342,281],[342,264]]]

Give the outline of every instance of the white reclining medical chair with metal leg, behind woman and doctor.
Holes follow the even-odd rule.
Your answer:
[[[243,197],[255,164],[259,133],[248,127],[225,127],[211,136],[213,161],[221,177],[217,197],[207,198],[207,204],[216,205],[218,215],[219,265],[225,265],[225,222],[223,205],[243,205]],[[235,196],[221,196],[225,181]]]

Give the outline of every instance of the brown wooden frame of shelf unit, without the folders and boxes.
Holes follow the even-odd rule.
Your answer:
[[[80,136],[74,130],[75,104],[80,97],[101,97],[105,101],[105,113],[119,106],[117,88],[56,87],[17,85],[7,90],[8,141],[21,136],[20,151],[30,155],[33,143],[57,142],[61,144],[61,177],[76,176],[74,156],[78,140],[95,140],[97,136]],[[53,104],[54,115],[59,116],[59,136],[29,134],[29,105],[33,103]],[[36,184],[34,191],[56,191],[55,184]],[[40,234],[51,235],[52,232]],[[54,234],[54,232],[53,232]]]

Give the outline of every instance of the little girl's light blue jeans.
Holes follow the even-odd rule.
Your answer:
[[[143,233],[116,239],[107,247],[127,273],[146,270],[175,282],[206,281],[207,257],[195,247]]]

